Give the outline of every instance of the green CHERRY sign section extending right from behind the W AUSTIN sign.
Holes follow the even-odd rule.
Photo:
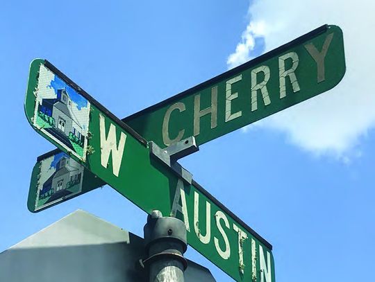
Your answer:
[[[124,122],[161,148],[189,136],[201,145],[335,87],[344,73],[342,30],[325,25]]]

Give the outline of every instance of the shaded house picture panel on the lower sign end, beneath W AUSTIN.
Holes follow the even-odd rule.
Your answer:
[[[35,211],[81,193],[84,168],[64,152],[42,160]]]

